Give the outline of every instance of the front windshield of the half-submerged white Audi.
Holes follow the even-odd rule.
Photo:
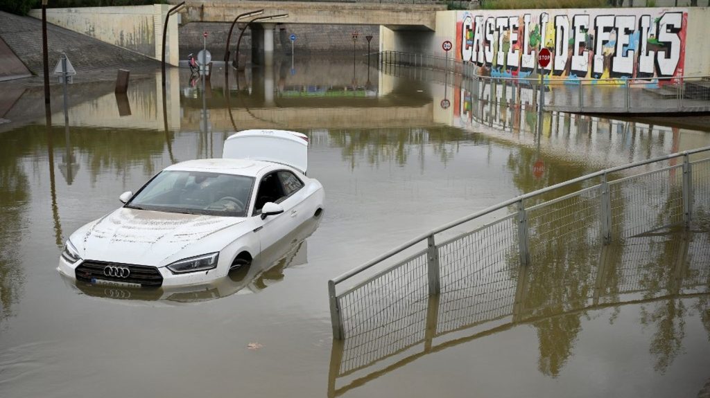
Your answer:
[[[245,217],[253,177],[202,171],[163,171],[126,207],[161,212]]]

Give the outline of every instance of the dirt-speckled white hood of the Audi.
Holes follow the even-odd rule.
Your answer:
[[[72,242],[85,260],[165,266],[181,258],[221,250],[216,247],[219,240],[210,237],[244,220],[121,207],[97,220]],[[173,258],[177,254],[184,256]]]

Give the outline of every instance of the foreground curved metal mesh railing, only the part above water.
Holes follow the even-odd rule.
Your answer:
[[[515,272],[513,268],[530,266],[542,251],[569,241],[608,244],[676,224],[689,227],[692,220],[710,224],[710,157],[692,160],[697,154],[710,155],[710,147],[617,166],[525,193],[444,224],[329,280],[334,339],[357,335],[393,309],[416,309],[422,297],[465,288],[466,278],[476,273]],[[584,188],[572,191],[579,186]],[[559,190],[565,193],[555,195]],[[486,220],[509,207],[512,212],[498,220],[437,243],[437,234]],[[426,249],[337,292],[338,285],[424,242]]]

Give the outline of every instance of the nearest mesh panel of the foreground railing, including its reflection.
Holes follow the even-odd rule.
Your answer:
[[[339,297],[348,339],[342,372],[420,341],[427,289],[427,255],[420,253]]]

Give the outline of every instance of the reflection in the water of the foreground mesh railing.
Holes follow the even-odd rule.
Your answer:
[[[706,292],[708,237],[707,231],[669,232],[606,246],[571,244],[567,250],[545,252],[540,268],[479,273],[466,281],[465,288],[422,297],[406,311],[383,309],[388,322],[371,323],[357,336],[334,341],[328,396],[342,395],[429,353],[520,324],[529,324],[542,336],[554,335],[555,339],[540,342],[540,359],[555,356],[562,366],[573,355],[567,344],[581,330],[579,319],[589,317],[589,312]],[[702,303],[699,311],[710,308],[708,300]],[[613,322],[613,314],[610,317]],[[658,336],[673,341],[677,334],[662,327],[672,317],[673,312],[664,312],[644,327],[663,329]]]

